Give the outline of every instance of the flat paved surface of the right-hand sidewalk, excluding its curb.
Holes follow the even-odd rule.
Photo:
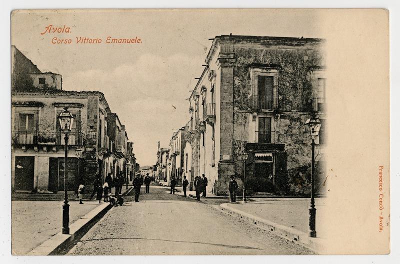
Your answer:
[[[227,205],[262,219],[308,233],[309,204],[309,198],[253,198],[245,204],[236,202]],[[326,212],[325,200],[316,198],[315,208],[317,237],[325,238],[323,224],[326,224],[326,218],[324,222],[321,221]]]

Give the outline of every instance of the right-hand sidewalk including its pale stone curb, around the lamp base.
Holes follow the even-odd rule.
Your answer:
[[[245,204],[223,203],[220,206],[227,213],[237,214],[264,229],[320,251],[322,240],[326,238],[323,230],[323,224],[327,224],[323,217],[325,200],[315,199],[317,238],[308,237],[309,203],[309,198],[262,198],[251,199]]]

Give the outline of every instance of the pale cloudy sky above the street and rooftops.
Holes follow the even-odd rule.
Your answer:
[[[62,75],[62,89],[100,91],[125,125],[141,166],[156,162],[157,141],[168,147],[189,120],[189,90],[203,70],[208,39],[220,35],[323,38],[312,10],[18,11],[11,44],[42,72]],[[45,33],[45,28],[70,33]],[[105,44],[106,38],[141,39]],[[51,40],[70,39],[71,44]],[[76,44],[76,37],[101,44]]]

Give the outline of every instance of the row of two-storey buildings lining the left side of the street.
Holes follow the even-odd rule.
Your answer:
[[[139,164],[125,126],[97,91],[64,91],[59,74],[41,72],[11,47],[11,186],[14,192],[57,193],[79,184],[92,188],[96,175],[131,180]],[[57,116],[74,117],[64,166],[64,135]]]

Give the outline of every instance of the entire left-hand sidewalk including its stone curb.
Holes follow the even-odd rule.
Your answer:
[[[131,190],[122,188],[124,195]],[[114,193],[114,190],[113,190]],[[62,250],[112,205],[96,200],[69,201],[69,234],[62,234],[61,201],[11,201],[12,254],[47,255]]]

